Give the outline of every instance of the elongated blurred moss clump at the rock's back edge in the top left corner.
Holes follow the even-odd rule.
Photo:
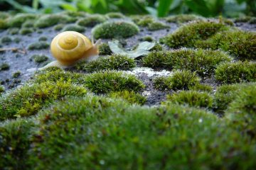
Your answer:
[[[31,13],[19,13],[16,16],[9,18],[8,23],[9,27],[21,27],[23,23],[28,20],[36,19],[38,16]]]

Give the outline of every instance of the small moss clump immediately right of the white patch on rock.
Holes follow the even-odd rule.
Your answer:
[[[170,77],[156,77],[154,87],[161,90],[188,90],[199,83],[196,72],[187,70],[176,71]]]

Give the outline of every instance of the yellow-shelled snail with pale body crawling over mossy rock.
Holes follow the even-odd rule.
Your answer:
[[[98,57],[100,40],[92,42],[85,35],[75,31],[59,33],[50,43],[50,52],[57,61],[50,62],[48,67],[67,68],[81,60],[95,60]]]

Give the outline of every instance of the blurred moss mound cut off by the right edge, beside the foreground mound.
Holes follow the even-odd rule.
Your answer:
[[[241,132],[256,139],[256,86],[244,88],[228,106],[225,118],[230,120],[233,125]]]

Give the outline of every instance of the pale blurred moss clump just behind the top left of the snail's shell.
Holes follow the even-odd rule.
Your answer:
[[[60,14],[49,14],[43,15],[34,24],[37,28],[46,28],[50,26],[54,26],[58,23],[70,23],[73,19],[69,16],[60,15]]]

